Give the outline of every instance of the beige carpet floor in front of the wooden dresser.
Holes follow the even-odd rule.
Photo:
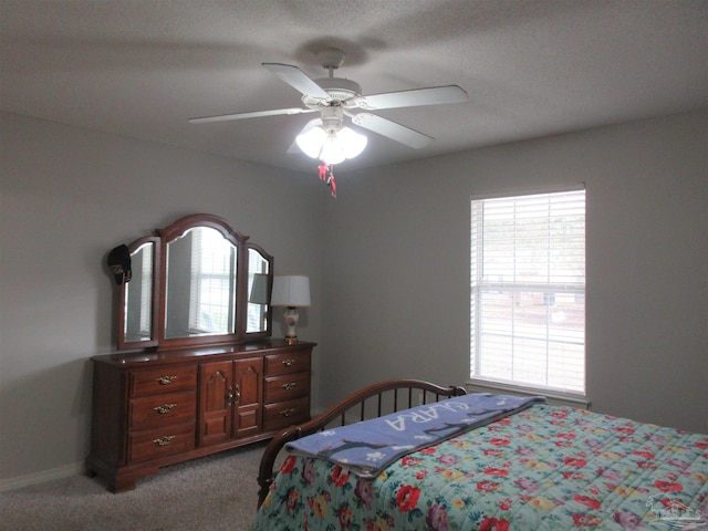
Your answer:
[[[0,492],[2,531],[247,531],[264,444],[163,468],[113,494],[75,476]]]

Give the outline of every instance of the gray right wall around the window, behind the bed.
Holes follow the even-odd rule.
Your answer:
[[[469,376],[473,194],[586,184],[592,409],[708,433],[708,113],[337,177],[322,396]]]

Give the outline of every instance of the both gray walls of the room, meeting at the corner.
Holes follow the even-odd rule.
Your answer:
[[[76,471],[91,364],[113,348],[106,252],[180,216],[230,220],[305,272],[314,403],[469,374],[469,196],[587,185],[593,408],[708,431],[705,112],[337,173],[240,164],[1,115],[0,486]],[[282,335],[277,315],[275,335]]]

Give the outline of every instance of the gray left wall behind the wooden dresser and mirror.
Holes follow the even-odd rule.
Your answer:
[[[75,470],[88,452],[88,357],[115,345],[105,259],[118,243],[221,216],[274,256],[275,273],[311,277],[298,332],[317,341],[327,197],[316,177],[0,117],[0,481]],[[282,336],[280,313],[275,323]],[[314,363],[317,377],[316,348]]]

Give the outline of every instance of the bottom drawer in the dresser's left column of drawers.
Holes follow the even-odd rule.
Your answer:
[[[128,461],[131,464],[158,459],[194,448],[194,423],[128,434]]]

